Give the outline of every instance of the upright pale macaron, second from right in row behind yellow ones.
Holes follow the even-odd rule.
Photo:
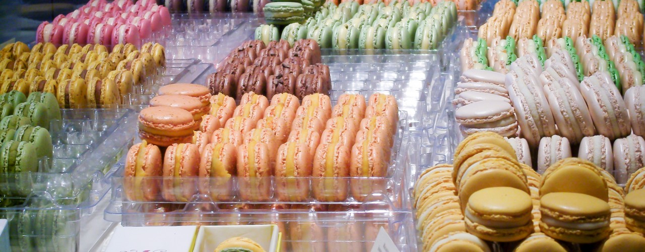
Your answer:
[[[589,160],[599,166],[600,169],[613,174],[613,151],[611,150],[611,142],[607,137],[595,135],[582,138],[577,157]]]

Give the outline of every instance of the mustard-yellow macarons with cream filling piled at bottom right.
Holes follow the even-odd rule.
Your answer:
[[[566,182],[571,177],[578,182]],[[553,239],[535,241],[534,237],[544,234],[564,242],[590,244],[587,249],[604,247],[619,234],[643,239],[642,229],[630,224],[628,213],[628,208],[639,204],[632,202],[635,197],[624,199],[622,188],[609,173],[585,160],[570,158],[539,175],[517,162],[510,144],[490,132],[464,139],[455,150],[454,165],[424,171],[415,184],[414,196],[417,228],[423,232],[426,251],[437,246],[433,244],[437,238],[453,231],[468,231],[493,242],[513,242],[502,246],[519,251],[531,251],[521,247],[566,251],[564,244]],[[635,202],[639,201],[642,198]]]

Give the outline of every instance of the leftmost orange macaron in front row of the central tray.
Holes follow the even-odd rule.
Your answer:
[[[154,179],[161,177],[163,160],[159,147],[148,142],[133,145],[124,165],[124,191],[129,200],[152,201],[159,195],[159,186]]]

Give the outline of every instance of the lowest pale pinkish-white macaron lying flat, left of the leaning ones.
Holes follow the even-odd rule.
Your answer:
[[[513,107],[503,101],[478,101],[457,108],[455,119],[461,124],[462,135],[492,131],[504,137],[517,135],[517,119]]]

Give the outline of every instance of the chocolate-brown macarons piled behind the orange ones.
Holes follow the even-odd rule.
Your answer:
[[[256,34],[266,35],[266,26]],[[275,28],[273,28],[275,29]],[[271,30],[271,29],[269,29]],[[213,95],[224,93],[239,100],[254,92],[272,99],[278,93],[291,93],[303,99],[312,93],[328,94],[332,88],[329,67],[321,64],[321,52],[313,39],[291,46],[287,41],[246,41],[228,54],[217,72],[206,78]]]

